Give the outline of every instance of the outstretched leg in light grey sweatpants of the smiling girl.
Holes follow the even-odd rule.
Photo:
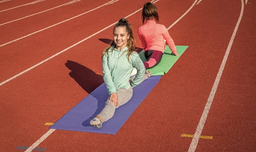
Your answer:
[[[114,103],[112,103],[108,98],[108,100],[105,102],[105,107],[99,113],[99,115],[96,116],[96,118],[101,120],[100,123],[103,123],[103,122],[109,120],[110,118],[112,118],[115,113],[115,109],[118,108],[119,106],[124,105],[131,99],[133,90],[131,87],[129,89],[121,88],[121,89],[117,90],[116,92],[118,95],[118,106],[115,106]],[[93,120],[91,120],[92,123],[90,122],[91,125],[95,125],[95,123],[97,123],[97,122],[93,123]],[[95,126],[97,127],[97,125],[95,125]],[[101,126],[101,124],[100,124],[100,126]]]

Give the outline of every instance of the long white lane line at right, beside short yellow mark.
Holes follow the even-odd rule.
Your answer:
[[[212,105],[212,100],[213,100],[213,98],[214,98],[214,96],[215,96],[215,92],[216,92],[216,90],[217,90],[217,88],[218,88],[218,83],[220,82],[222,72],[223,72],[224,67],[225,67],[225,64],[226,64],[226,62],[227,62],[227,57],[228,57],[228,55],[229,55],[231,46],[232,46],[233,41],[234,41],[234,38],[235,38],[235,36],[236,36],[237,29],[238,29],[238,27],[239,27],[241,18],[242,18],[242,16],[243,16],[243,12],[244,12],[244,3],[243,3],[243,0],[241,0],[241,2],[242,2],[242,3],[241,3],[242,5],[241,5],[241,13],[240,13],[239,19],[238,19],[238,21],[237,21],[237,23],[236,23],[236,27],[235,27],[235,29],[234,29],[234,32],[233,32],[232,37],[231,37],[231,39],[230,39],[230,42],[229,42],[229,44],[228,44],[228,46],[227,46],[227,51],[226,51],[226,53],[225,53],[225,55],[224,55],[224,58],[223,58],[223,60],[222,60],[222,63],[221,63],[220,69],[219,69],[219,71],[218,71],[217,77],[216,77],[216,79],[215,79],[215,82],[214,82],[214,84],[213,84],[213,86],[212,86],[211,93],[210,93],[209,98],[208,98],[208,100],[207,100],[207,103],[206,103],[206,105],[205,105],[205,107],[204,107],[204,112],[203,112],[203,114],[202,114],[202,116],[201,116],[201,119],[200,119],[200,121],[199,121],[199,123],[198,123],[197,129],[196,129],[196,131],[195,131],[195,135],[194,135],[194,137],[193,137],[193,139],[192,139],[192,142],[191,142],[191,144],[190,144],[190,146],[189,146],[189,152],[195,152],[195,149],[196,149],[196,146],[197,146],[197,144],[198,144],[200,135],[201,135],[201,133],[202,133],[202,131],[203,131],[203,128],[204,128],[204,123],[205,123],[205,121],[206,121],[206,119],[207,119],[207,115],[208,115],[209,110],[210,110],[210,107],[211,107],[211,105]]]

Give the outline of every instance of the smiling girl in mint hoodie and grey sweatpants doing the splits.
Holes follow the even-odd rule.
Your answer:
[[[137,74],[130,77],[133,69]],[[102,123],[113,117],[115,109],[127,103],[133,87],[150,77],[150,72],[135,52],[135,40],[128,20],[121,19],[114,26],[113,41],[102,53],[103,79],[109,98],[103,110],[90,121],[90,125],[100,128]]]

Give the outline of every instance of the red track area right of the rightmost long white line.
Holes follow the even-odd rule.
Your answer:
[[[197,151],[250,152],[256,148],[255,9],[255,4],[244,3],[244,14],[202,132],[212,135],[213,140],[199,141]]]

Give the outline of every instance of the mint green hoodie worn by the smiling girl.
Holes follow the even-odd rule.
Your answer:
[[[120,88],[129,89],[131,85],[134,87],[139,85],[146,70],[137,52],[130,55],[129,63],[127,52],[125,52],[128,49],[127,46],[120,52],[116,48],[113,51],[112,49],[113,46],[108,51],[108,57],[104,55],[102,58],[103,79],[109,95]],[[122,54],[123,52],[125,53]],[[133,68],[137,69],[137,75],[130,85],[129,79]]]

